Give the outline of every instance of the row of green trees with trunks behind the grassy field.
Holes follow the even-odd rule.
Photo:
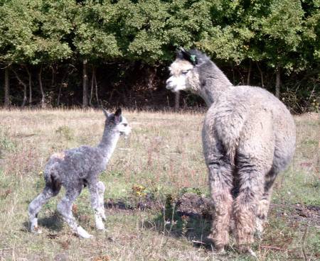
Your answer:
[[[82,82],[73,90],[85,107],[98,100],[102,65],[143,65],[152,84],[178,46],[203,50],[230,74],[238,70],[235,82],[273,85],[280,96],[287,81],[283,99],[292,102],[295,94],[299,103],[298,91],[319,106],[320,0],[0,0],[0,94],[4,106],[15,103],[12,94],[22,96],[22,106],[33,99],[46,106],[53,91],[59,105],[81,65]],[[121,88],[121,75],[113,74],[108,88]]]

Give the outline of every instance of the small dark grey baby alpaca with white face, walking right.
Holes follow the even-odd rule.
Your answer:
[[[106,219],[103,202],[105,185],[98,181],[98,174],[105,170],[119,136],[129,135],[131,128],[122,116],[121,109],[117,109],[115,113],[102,110],[106,116],[105,130],[97,147],[83,145],[64,150],[53,154],[48,160],[43,173],[46,187],[28,207],[31,232],[41,233],[38,230],[38,212],[43,204],[59,193],[61,186],[65,187],[66,192],[57,208],[75,233],[82,238],[92,236],[78,225],[72,213],[73,202],[86,186],[89,188],[91,206],[95,211],[95,226],[98,230],[105,229],[102,222]]]

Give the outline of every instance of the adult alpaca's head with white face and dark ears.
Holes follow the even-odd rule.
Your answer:
[[[206,67],[212,64],[202,52],[180,48],[176,60],[169,67],[170,77],[166,80],[166,89],[198,93],[201,90],[201,73],[203,69],[206,72]]]

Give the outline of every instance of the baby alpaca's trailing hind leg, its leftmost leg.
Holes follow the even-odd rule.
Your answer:
[[[49,199],[51,199],[53,196],[56,196],[60,191],[59,188],[55,188],[55,190],[50,187],[46,186],[41,194],[36,196],[33,201],[28,206],[28,213],[29,213],[29,227],[30,231],[33,233],[41,233],[41,231],[38,229],[38,212],[41,209],[41,206],[46,204]]]

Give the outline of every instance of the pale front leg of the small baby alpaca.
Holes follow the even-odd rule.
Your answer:
[[[103,194],[105,185],[102,182],[92,181],[89,183],[90,199],[92,209],[95,211],[95,226],[98,230],[105,230],[105,208],[103,206]]]

